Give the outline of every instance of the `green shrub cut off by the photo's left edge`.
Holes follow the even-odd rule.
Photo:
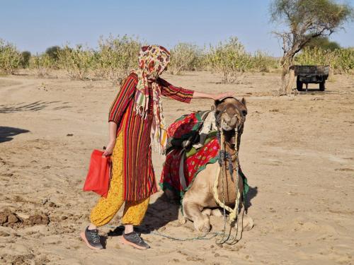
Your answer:
[[[0,39],[0,71],[11,74],[21,66],[22,56],[16,46]]]

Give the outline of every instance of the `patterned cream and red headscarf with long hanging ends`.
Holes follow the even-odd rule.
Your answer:
[[[151,137],[157,143],[160,153],[164,153],[167,143],[167,132],[162,114],[161,86],[156,82],[170,61],[167,49],[158,45],[143,46],[139,52],[139,69],[135,71],[138,77],[135,92],[135,111],[143,119],[147,118],[149,108],[149,83],[153,91],[154,120],[152,122]]]

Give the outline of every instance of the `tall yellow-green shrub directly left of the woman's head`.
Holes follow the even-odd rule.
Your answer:
[[[99,40],[96,53],[95,74],[118,85],[127,74],[137,68],[139,49],[142,43],[137,38],[110,36]]]

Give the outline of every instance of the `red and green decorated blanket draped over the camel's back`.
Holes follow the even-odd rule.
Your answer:
[[[209,131],[204,143],[198,145],[199,131],[202,129],[204,117],[205,112],[186,114],[167,129],[169,149],[159,182],[162,189],[171,189],[183,197],[198,173],[205,170],[207,164],[219,160],[220,145],[217,131]],[[183,141],[190,141],[190,146],[182,148]],[[245,195],[249,186],[241,170],[239,172],[244,179]]]

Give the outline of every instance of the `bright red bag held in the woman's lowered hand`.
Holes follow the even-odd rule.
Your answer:
[[[110,183],[110,156],[103,156],[103,151],[93,150],[91,153],[89,173],[84,184],[85,192],[96,192],[107,197]]]

